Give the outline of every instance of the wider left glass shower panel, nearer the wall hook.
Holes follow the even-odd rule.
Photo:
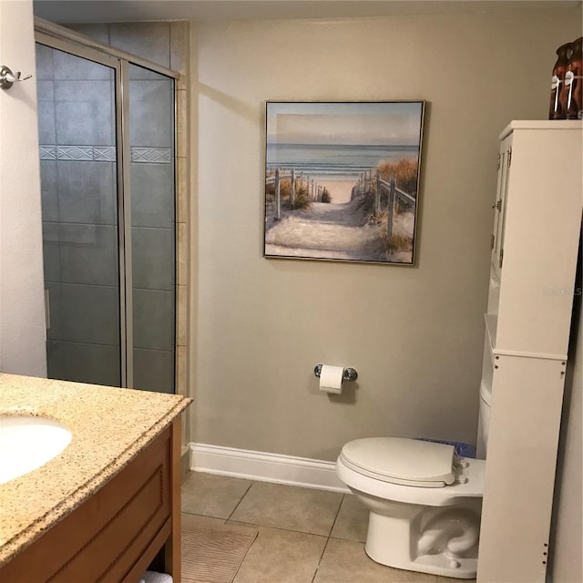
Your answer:
[[[111,61],[36,45],[48,376],[122,386]]]

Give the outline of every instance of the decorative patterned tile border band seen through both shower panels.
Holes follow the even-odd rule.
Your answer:
[[[171,164],[172,148],[132,147],[131,161],[146,164]],[[41,160],[72,160],[82,162],[115,162],[114,146],[57,146],[41,144]]]

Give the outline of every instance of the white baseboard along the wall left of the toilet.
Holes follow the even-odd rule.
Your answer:
[[[332,492],[349,493],[333,462],[307,457],[253,452],[220,445],[190,445],[190,469],[219,476],[244,477]]]

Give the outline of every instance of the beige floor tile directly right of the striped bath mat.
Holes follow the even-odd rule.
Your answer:
[[[240,526],[229,521],[227,526]],[[257,527],[233,583],[312,583],[326,537],[279,528]]]

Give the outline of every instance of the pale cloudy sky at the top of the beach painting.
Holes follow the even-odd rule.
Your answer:
[[[268,144],[414,146],[422,103],[268,102]]]

